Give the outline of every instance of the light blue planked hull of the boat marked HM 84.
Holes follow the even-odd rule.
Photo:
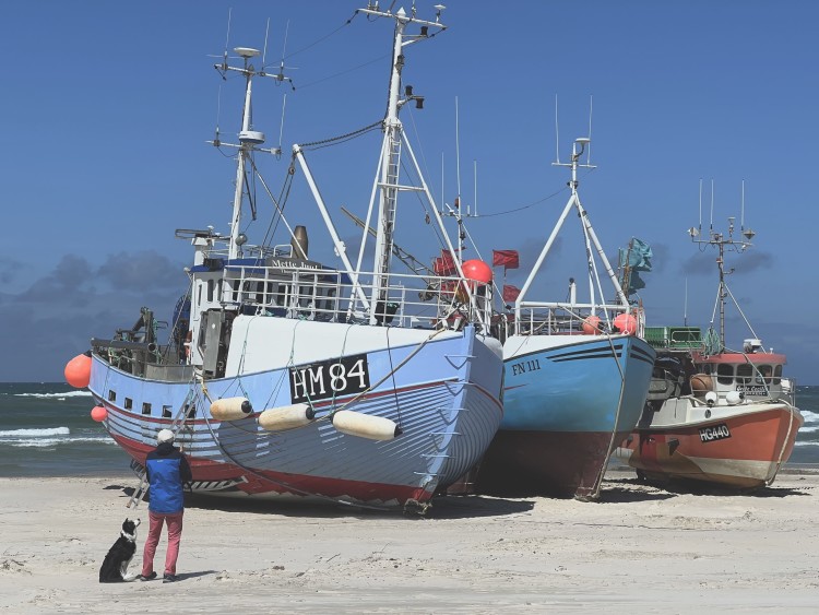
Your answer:
[[[241,331],[238,323],[234,344]],[[437,489],[478,461],[497,431],[502,415],[500,344],[476,334],[472,327],[443,333],[385,331],[270,318],[241,346],[247,360],[228,358],[228,367],[236,365],[239,371],[232,377],[205,382],[149,380],[95,355],[90,389],[108,411],[105,425],[111,437],[138,463],[144,463],[159,429],[185,418],[177,425],[177,442],[191,462],[195,489],[202,493],[288,494],[378,508],[425,507]],[[395,344],[384,347],[384,335],[393,335]],[[284,354],[295,360],[258,369],[264,363],[265,344],[270,356],[282,354],[286,346]],[[310,363],[316,357],[295,351],[305,347],[318,347],[324,357],[363,357],[369,388],[349,392],[340,386],[337,394],[309,400],[314,421],[268,431],[258,423],[261,411],[287,406],[297,401],[294,394],[306,390],[321,398],[319,392],[329,389],[330,376],[318,370],[321,364]],[[253,371],[241,371],[248,365]],[[341,382],[339,371],[329,374]],[[345,374],[348,379],[360,376],[360,367]],[[210,403],[233,397],[247,398],[253,412],[238,421],[213,418]],[[342,407],[390,418],[402,433],[388,441],[343,434],[330,419]]]

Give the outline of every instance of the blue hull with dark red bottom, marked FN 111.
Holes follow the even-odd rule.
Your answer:
[[[637,424],[654,351],[634,336],[512,336],[505,416],[476,490],[596,497],[613,446]]]

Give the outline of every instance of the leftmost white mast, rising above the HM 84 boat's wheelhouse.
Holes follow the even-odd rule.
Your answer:
[[[251,125],[251,94],[252,94],[252,80],[254,76],[270,76],[281,81],[280,75],[268,74],[262,70],[257,71],[250,60],[260,55],[258,49],[250,47],[236,47],[234,51],[244,59],[244,66],[241,68],[230,67],[227,64],[227,56],[221,64],[214,64],[214,68],[222,73],[223,79],[227,71],[235,71],[239,74],[245,75],[245,106],[242,108],[241,116],[241,130],[239,131],[239,143],[224,143],[219,141],[218,133],[214,141],[209,143],[215,146],[227,146],[235,147],[239,151],[239,156],[236,164],[236,189],[234,191],[234,208],[233,216],[230,217],[230,241],[228,244],[228,259],[236,259],[241,256],[241,246],[247,241],[247,236],[241,232],[241,201],[245,196],[245,169],[247,167],[247,161],[250,158],[253,152],[266,152],[270,154],[281,154],[282,150],[278,147],[264,149],[259,147],[264,143],[264,133],[252,129]]]

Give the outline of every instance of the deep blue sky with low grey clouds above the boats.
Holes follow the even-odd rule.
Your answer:
[[[431,4],[419,2],[419,15],[431,16]],[[680,323],[687,312],[689,324],[708,326],[716,255],[700,252],[686,229],[698,224],[700,179],[705,225],[714,181],[719,229],[727,216],[738,221],[745,180],[745,223],[758,235],[749,251],[728,256],[731,288],[764,345],[788,355],[791,376],[819,383],[819,327],[809,316],[819,303],[812,252],[819,4],[447,5],[449,29],[407,49],[404,83],[426,103],[402,117],[432,192],[451,203],[458,99],[461,194],[471,204],[477,196],[482,214],[468,229],[484,256],[492,248],[521,251],[521,269],[507,282],[522,285],[568,198],[566,169],[551,166],[555,98],[561,159],[574,138],[587,135],[593,98],[597,168],[581,175],[581,199],[607,253],[632,236],[652,245],[654,271],[641,293],[649,324]],[[382,117],[391,27],[363,16],[345,25],[359,8],[355,1],[3,8],[0,380],[61,380],[64,363],[90,338],[130,327],[143,305],[168,319],[190,258],[174,230],[212,224],[227,232],[234,166],[205,141],[217,122],[224,139],[238,130],[240,84],[223,83],[209,57],[225,47],[232,7],[229,47],[262,47],[270,17],[268,63],[280,61],[287,27],[284,54],[296,91],[269,83],[257,90],[254,121],[269,144],[278,142],[284,93],[285,152]],[[349,238],[355,227],[339,208],[366,205],[379,145],[371,137],[352,153],[310,154]],[[274,191],[287,158],[262,162]],[[311,256],[332,253],[300,174],[289,202],[294,223],[314,228]],[[248,228],[251,241],[266,230],[268,213],[260,208],[260,221]],[[570,222],[538,280],[544,298],[563,298],[568,277],[583,275],[572,259],[579,230]],[[438,249],[420,233],[401,243],[424,259]],[[728,310],[727,324],[729,345],[750,336],[736,310]]]

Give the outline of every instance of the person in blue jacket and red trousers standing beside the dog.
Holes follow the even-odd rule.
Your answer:
[[[179,556],[179,541],[182,536],[182,516],[185,513],[183,488],[192,480],[190,465],[185,454],[174,447],[174,431],[162,429],[156,436],[156,448],[147,453],[145,471],[149,481],[149,519],[151,524],[142,554],[141,581],[156,578],[154,554],[159,544],[162,527],[168,524],[168,551],[165,554],[165,575],[163,582],[178,580],[176,560]]]

